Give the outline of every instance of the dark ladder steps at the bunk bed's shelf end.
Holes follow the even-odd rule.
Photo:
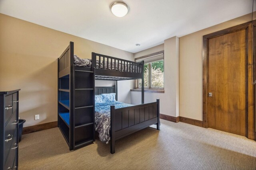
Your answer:
[[[95,141],[94,127],[94,67],[76,70],[74,66],[74,149]]]

